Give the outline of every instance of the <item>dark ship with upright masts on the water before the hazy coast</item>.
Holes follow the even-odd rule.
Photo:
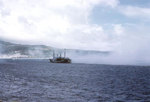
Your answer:
[[[55,57],[55,52],[53,51],[53,58],[49,59],[51,63],[71,63],[71,59],[66,57],[66,50],[64,50],[64,57],[61,56],[61,53]]]

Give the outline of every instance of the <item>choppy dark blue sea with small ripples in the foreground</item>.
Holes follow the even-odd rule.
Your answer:
[[[150,102],[150,67],[5,60],[0,63],[0,100]]]

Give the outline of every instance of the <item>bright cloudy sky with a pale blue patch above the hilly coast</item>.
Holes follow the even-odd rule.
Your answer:
[[[149,51],[150,0],[0,0],[0,39],[59,48]]]

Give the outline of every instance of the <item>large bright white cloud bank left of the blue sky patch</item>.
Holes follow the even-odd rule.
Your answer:
[[[110,49],[103,40],[107,39],[103,27],[89,23],[89,15],[96,5],[116,7],[118,3],[118,0],[0,0],[0,38],[56,47]],[[104,45],[97,46],[96,41]]]

